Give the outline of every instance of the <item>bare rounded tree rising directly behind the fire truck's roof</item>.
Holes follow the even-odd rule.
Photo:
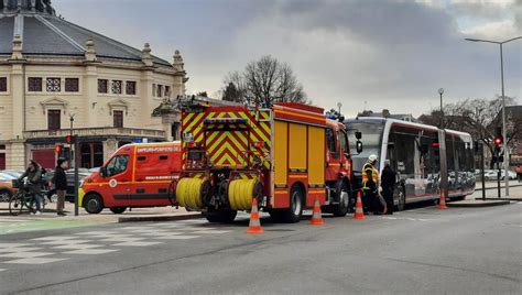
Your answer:
[[[250,62],[242,73],[225,78],[224,99],[269,107],[274,102],[307,102],[292,67],[270,55]]]

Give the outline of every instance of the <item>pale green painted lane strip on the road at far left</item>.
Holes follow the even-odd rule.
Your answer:
[[[79,228],[105,222],[90,220],[59,220],[59,219],[23,219],[6,221],[3,218],[0,221],[0,234],[51,230],[51,229],[66,229]]]

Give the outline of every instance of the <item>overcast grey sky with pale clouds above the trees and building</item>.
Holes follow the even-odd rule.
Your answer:
[[[309,99],[342,111],[418,116],[500,95],[499,45],[522,35],[522,0],[54,0],[57,14],[172,61],[189,94],[262,55],[289,63]],[[522,102],[522,40],[504,45],[505,95]]]

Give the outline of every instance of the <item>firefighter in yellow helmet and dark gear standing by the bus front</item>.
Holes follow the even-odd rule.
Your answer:
[[[362,207],[366,212],[382,214],[387,211],[387,205],[379,194],[377,162],[377,155],[370,155],[362,167]]]

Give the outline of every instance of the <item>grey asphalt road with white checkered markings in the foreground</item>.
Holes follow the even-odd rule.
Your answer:
[[[263,219],[260,236],[244,233],[247,218],[6,234],[0,293],[520,294],[521,204],[326,226]]]

